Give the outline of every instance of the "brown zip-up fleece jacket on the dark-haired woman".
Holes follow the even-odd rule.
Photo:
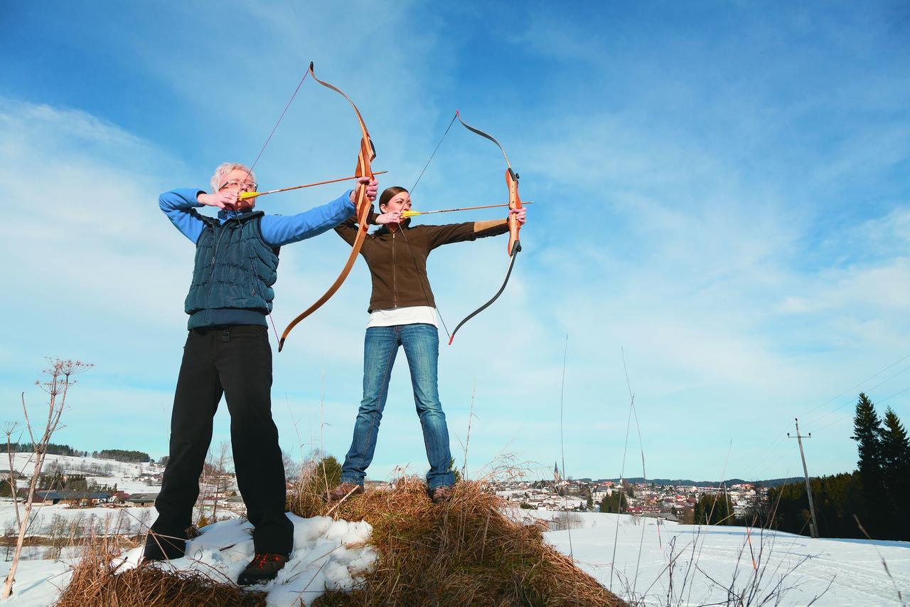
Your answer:
[[[410,219],[403,221],[397,231],[383,226],[363,241],[360,254],[367,260],[373,281],[368,312],[409,305],[436,307],[427,278],[430,251],[450,242],[475,241],[509,231],[506,220],[409,226]],[[358,227],[352,217],[335,231],[352,245]]]

